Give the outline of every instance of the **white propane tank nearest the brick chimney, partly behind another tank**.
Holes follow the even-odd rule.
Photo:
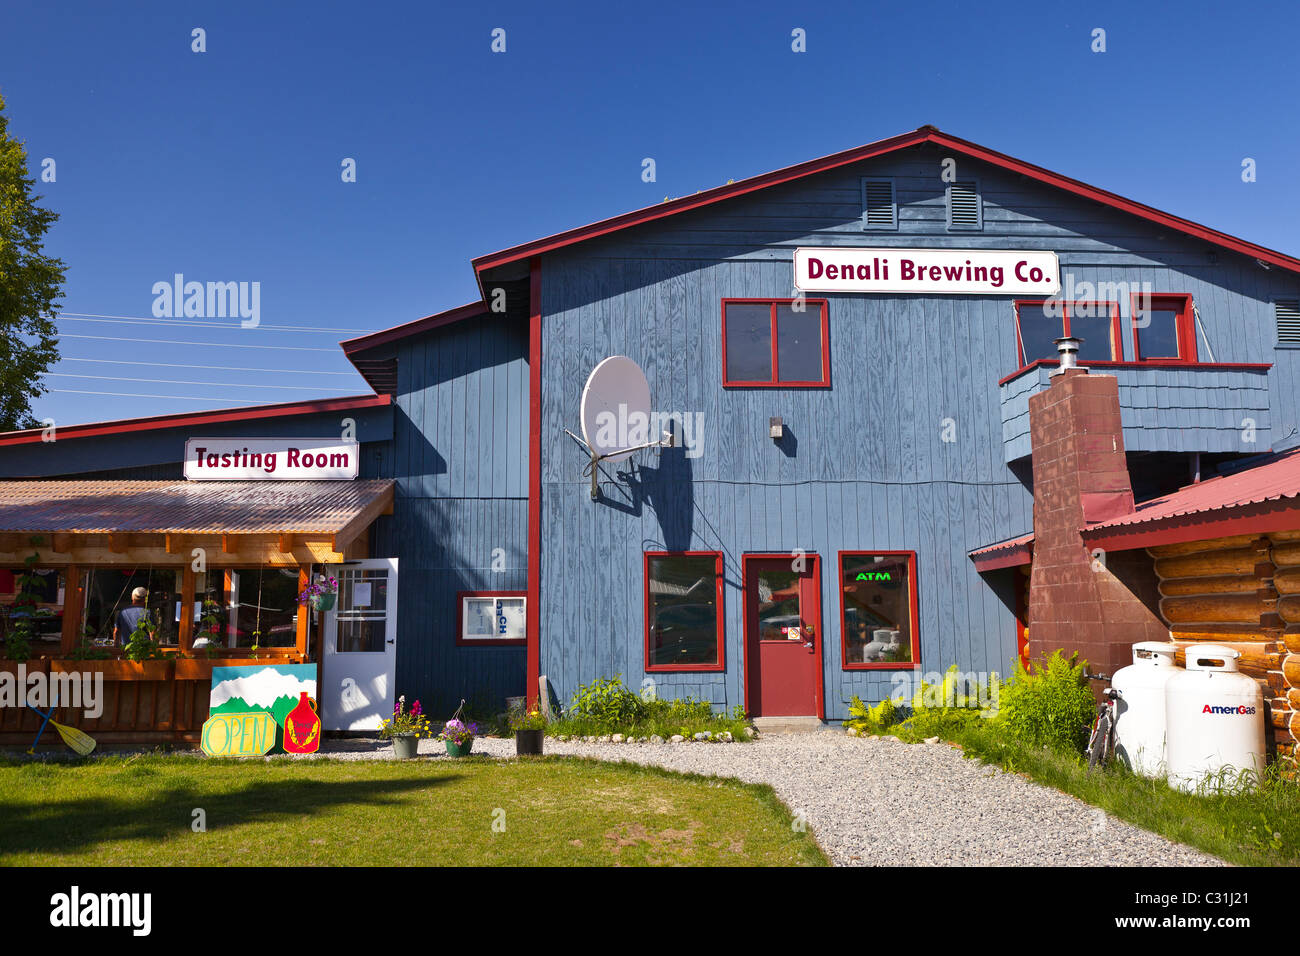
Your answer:
[[[1165,774],[1165,684],[1178,672],[1173,644],[1134,644],[1134,662],[1110,687],[1115,701],[1115,756],[1135,774]]]

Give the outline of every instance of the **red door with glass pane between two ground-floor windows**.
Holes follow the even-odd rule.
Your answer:
[[[742,567],[745,709],[751,717],[823,717],[816,555],[745,555]]]

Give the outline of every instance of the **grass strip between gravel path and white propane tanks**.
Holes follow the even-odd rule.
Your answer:
[[[1008,740],[978,722],[950,739],[968,757],[1056,787],[1221,860],[1242,866],[1300,865],[1300,786],[1278,777],[1274,767],[1253,791],[1184,793],[1119,763],[1089,773],[1082,756]]]

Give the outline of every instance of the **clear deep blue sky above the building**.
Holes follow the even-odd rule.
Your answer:
[[[1300,254],[1297,9],[4,0],[0,94],[56,163],[68,264],[35,411],[364,393],[337,342],[476,298],[472,256],[927,122]],[[151,319],[176,273],[259,282],[261,325],[86,320]]]

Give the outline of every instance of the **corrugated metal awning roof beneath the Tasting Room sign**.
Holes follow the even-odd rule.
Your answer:
[[[0,481],[0,532],[333,535],[393,481]]]

